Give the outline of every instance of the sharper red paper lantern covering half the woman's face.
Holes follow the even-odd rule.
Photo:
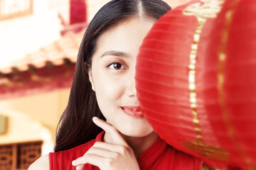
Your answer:
[[[135,76],[139,103],[154,130],[210,166],[228,160],[228,153],[213,135],[198,91],[205,53],[200,49],[221,6],[221,1],[192,1],[160,18],[140,48]]]

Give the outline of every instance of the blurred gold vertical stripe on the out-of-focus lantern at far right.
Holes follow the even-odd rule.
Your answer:
[[[228,135],[232,142],[235,144],[236,149],[238,150],[240,156],[244,159],[245,163],[248,166],[248,169],[256,169],[250,160],[250,158],[242,151],[241,146],[239,145],[238,140],[235,137],[233,126],[230,123],[230,119],[228,116],[228,111],[225,106],[225,92],[224,92],[224,84],[225,84],[225,74],[224,74],[224,67],[225,67],[225,59],[226,59],[226,52],[225,47],[228,41],[228,30],[230,28],[230,24],[233,21],[233,13],[235,8],[238,6],[238,2],[240,0],[234,0],[230,5],[230,9],[225,13],[225,25],[223,29],[222,38],[220,40],[220,49],[218,51],[218,94],[220,100],[220,107],[223,113],[223,120],[225,122],[226,127],[228,128]]]

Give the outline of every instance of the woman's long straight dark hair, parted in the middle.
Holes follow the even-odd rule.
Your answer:
[[[94,116],[105,118],[97,105],[95,91],[92,91],[87,74],[99,36],[129,18],[144,17],[157,21],[170,9],[161,0],[113,0],[96,13],[82,38],[68,106],[57,128],[55,152],[82,145],[95,139],[102,131],[92,122]]]

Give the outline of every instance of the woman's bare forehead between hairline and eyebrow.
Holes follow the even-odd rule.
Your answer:
[[[114,28],[107,30],[97,40],[95,55],[107,50],[118,50],[122,52],[133,52],[139,49],[142,40],[149,32],[153,22],[132,18],[119,23]]]

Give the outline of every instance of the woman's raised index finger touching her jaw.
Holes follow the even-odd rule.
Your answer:
[[[129,147],[129,145],[128,145],[127,142],[124,140],[124,138],[122,137],[122,135],[120,134],[120,132],[118,132],[118,130],[116,130],[112,125],[110,125],[110,123],[107,123],[107,122],[105,122],[104,120],[101,120],[100,118],[97,118],[97,117],[93,117],[93,118],[92,118],[92,121],[93,121],[97,126],[99,126],[99,127],[102,128],[103,130],[105,130],[106,132],[108,132],[116,144],[118,144],[118,145],[124,145],[124,146],[126,146],[126,147]]]

